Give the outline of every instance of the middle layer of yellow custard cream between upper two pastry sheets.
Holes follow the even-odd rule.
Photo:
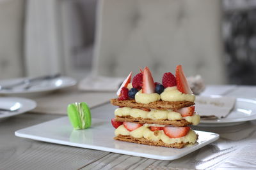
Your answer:
[[[180,113],[172,110],[151,110],[144,111],[136,108],[117,108],[115,110],[115,115],[118,117],[131,116],[134,118],[150,118],[153,120],[157,119],[168,119],[168,120],[180,120],[185,119],[193,125],[198,125],[200,122],[200,116],[195,112],[191,117],[182,117]]]

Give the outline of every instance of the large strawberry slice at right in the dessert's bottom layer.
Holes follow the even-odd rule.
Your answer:
[[[164,134],[170,138],[181,138],[188,134],[190,127],[164,127]]]

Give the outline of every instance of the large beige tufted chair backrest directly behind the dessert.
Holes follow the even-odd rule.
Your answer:
[[[148,66],[155,81],[182,64],[186,76],[225,83],[221,3],[204,0],[101,0],[93,73],[126,76]]]

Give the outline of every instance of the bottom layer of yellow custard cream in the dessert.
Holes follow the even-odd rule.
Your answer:
[[[150,131],[148,127],[146,126],[141,126],[138,129],[135,129],[134,131],[128,131],[125,129],[124,125],[120,125],[116,130],[115,130],[115,136],[118,136],[119,134],[124,135],[124,136],[129,136],[131,135],[134,138],[145,138],[148,140],[152,141],[163,141],[164,143],[167,144],[172,144],[172,143],[195,143],[196,142],[196,133],[192,130],[186,134],[186,136],[183,136],[181,138],[169,138],[164,134],[163,130],[162,131]]]

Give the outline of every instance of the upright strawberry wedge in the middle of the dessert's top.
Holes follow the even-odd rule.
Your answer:
[[[143,71],[143,86],[142,86],[142,93],[145,94],[152,94],[155,92],[155,85],[152,74],[148,67],[145,67]]]

